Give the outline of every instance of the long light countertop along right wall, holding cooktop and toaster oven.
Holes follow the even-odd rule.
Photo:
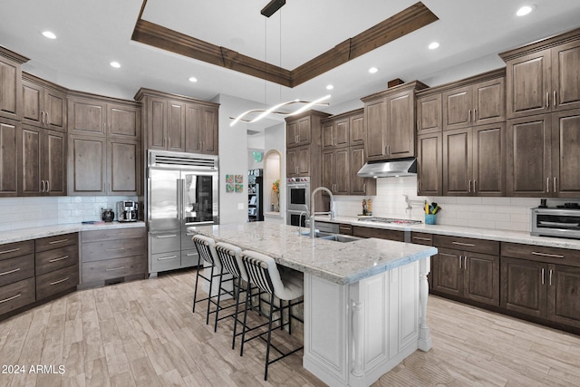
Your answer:
[[[528,232],[509,231],[491,228],[461,227],[448,225],[426,225],[421,223],[414,226],[401,226],[395,224],[384,224],[358,220],[362,217],[336,217],[331,221],[328,217],[316,217],[315,221],[348,223],[353,226],[385,228],[391,230],[414,231],[428,234],[448,235],[452,237],[474,237],[478,239],[497,240],[499,242],[523,243],[526,245],[560,247],[580,250],[579,239],[568,239],[561,237],[534,237]]]

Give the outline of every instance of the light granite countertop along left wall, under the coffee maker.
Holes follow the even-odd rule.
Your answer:
[[[65,225],[52,225],[33,228],[20,228],[10,231],[2,231],[0,234],[0,245],[23,240],[37,239],[39,237],[53,237],[72,232],[105,230],[113,228],[145,227],[145,222],[111,222],[96,225],[85,225],[82,223],[71,223]]]

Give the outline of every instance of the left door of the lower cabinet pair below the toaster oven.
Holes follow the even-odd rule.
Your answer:
[[[501,257],[501,306],[546,318],[546,264]]]

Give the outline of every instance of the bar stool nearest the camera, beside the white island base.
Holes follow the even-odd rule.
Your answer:
[[[246,269],[247,277],[249,280],[247,285],[247,292],[250,290],[250,284],[253,284],[263,292],[269,294],[270,313],[268,315],[268,330],[261,334],[256,334],[246,338],[249,297],[246,298],[246,310],[244,311],[244,325],[242,328],[243,331],[240,355],[244,353],[244,343],[256,339],[257,337],[264,340],[266,342],[266,366],[264,370],[264,380],[267,381],[268,366],[270,364],[284,359],[286,356],[289,356],[292,353],[296,353],[304,348],[304,346],[300,346],[290,352],[284,353],[271,343],[273,323],[278,323],[280,329],[284,329],[284,326],[288,325],[289,334],[292,334],[291,322],[293,318],[300,321],[301,323],[304,323],[301,319],[295,317],[292,314],[292,306],[303,303],[301,300],[295,304],[292,304],[292,301],[304,295],[304,284],[303,281],[301,281],[299,278],[296,278],[296,276],[293,276],[291,273],[279,271],[274,258],[271,256],[265,256],[264,254],[256,253],[254,251],[243,251],[242,263]],[[275,297],[280,300],[279,306],[275,305]],[[284,305],[283,301],[287,301],[287,305]],[[288,321],[286,323],[284,322],[285,309],[288,309]],[[279,317],[274,318],[274,314],[276,312],[279,313]],[[267,339],[263,337],[265,334],[267,334]],[[272,361],[270,361],[270,348],[274,348],[277,353],[280,353],[280,356],[276,357]]]

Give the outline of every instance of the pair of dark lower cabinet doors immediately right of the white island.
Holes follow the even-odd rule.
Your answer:
[[[499,256],[439,248],[432,262],[433,290],[499,305]]]

